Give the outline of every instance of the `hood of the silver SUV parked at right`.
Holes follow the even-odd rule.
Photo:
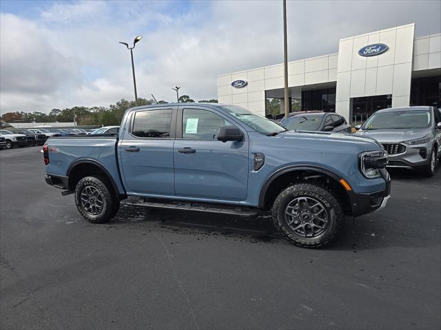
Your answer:
[[[403,142],[420,139],[430,132],[430,129],[370,129],[357,131],[355,135],[371,137],[378,142]]]

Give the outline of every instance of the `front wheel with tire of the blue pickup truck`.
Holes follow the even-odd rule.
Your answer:
[[[289,242],[302,248],[321,248],[335,239],[344,214],[327,188],[300,183],[280,192],[272,216]]]

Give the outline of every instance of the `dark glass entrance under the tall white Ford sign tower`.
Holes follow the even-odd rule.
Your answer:
[[[377,110],[392,107],[391,94],[351,98],[352,124],[362,124]]]

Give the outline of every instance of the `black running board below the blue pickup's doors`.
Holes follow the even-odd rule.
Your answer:
[[[224,206],[216,204],[194,203],[185,201],[147,201],[141,199],[127,199],[121,202],[123,205],[143,206],[145,208],[169,208],[173,210],[199,211],[209,213],[221,213],[230,215],[240,215],[241,217],[254,217],[258,210],[252,208],[243,208],[242,206]]]

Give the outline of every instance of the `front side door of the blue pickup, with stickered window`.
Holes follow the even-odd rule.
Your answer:
[[[221,142],[221,126],[233,125],[213,109],[183,107],[176,120],[176,196],[241,201],[247,198],[249,140]]]

